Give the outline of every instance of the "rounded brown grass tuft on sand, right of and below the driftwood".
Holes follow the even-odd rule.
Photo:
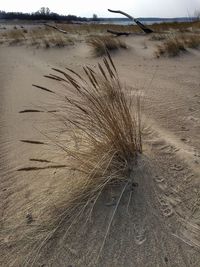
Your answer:
[[[156,56],[169,56],[175,57],[178,56],[181,52],[185,52],[185,44],[183,40],[178,38],[169,38],[163,44],[158,46],[158,50],[156,51]]]

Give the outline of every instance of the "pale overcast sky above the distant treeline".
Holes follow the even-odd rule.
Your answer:
[[[4,11],[35,12],[43,6],[59,14],[86,17],[115,16],[108,8],[121,9],[134,17],[182,17],[200,11],[200,0],[0,0],[0,10]]]

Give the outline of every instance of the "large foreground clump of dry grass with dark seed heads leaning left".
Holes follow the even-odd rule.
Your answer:
[[[59,90],[58,87],[52,90],[34,85],[59,98],[58,109],[62,108],[60,114],[56,111],[43,110],[43,112],[55,116],[62,125],[61,129],[57,130],[65,133],[65,141],[54,139],[54,144],[64,152],[65,164],[55,166],[51,161],[43,160],[44,167],[31,166],[20,170],[65,168],[66,171],[73,171],[73,179],[78,177],[80,181],[64,206],[65,201],[61,200],[62,209],[59,216],[52,216],[47,225],[43,226],[42,235],[40,231],[40,236],[37,238],[39,245],[33,246],[34,255],[32,257],[29,255],[27,266],[32,266],[42,247],[56,233],[62,231],[62,228],[64,231],[62,240],[65,242],[74,221],[83,220],[85,217],[87,221],[101,194],[108,187],[120,185],[121,192],[113,214],[108,220],[100,255],[122,196],[127,187],[133,184],[132,172],[138,163],[139,154],[142,153],[140,97],[138,93],[127,95],[126,87],[121,83],[109,54],[103,62],[104,66],[98,64],[98,71],[88,66],[84,67],[85,77],[71,69],[67,71],[53,69],[55,73],[46,77],[58,82],[64,90]],[[39,113],[40,110],[28,109],[21,113],[28,112]],[[22,141],[36,145],[41,143],[33,140]],[[70,188],[68,190],[70,191]],[[59,206],[58,203],[54,203],[54,206],[56,204]],[[66,228],[66,221],[69,222],[69,228]]]

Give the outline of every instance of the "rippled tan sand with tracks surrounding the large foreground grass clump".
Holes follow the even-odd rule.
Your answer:
[[[63,229],[37,261],[29,262],[21,233],[39,225],[47,207],[56,209],[69,181],[63,184],[63,171],[17,169],[33,157],[62,161],[50,148],[20,142],[43,140],[41,131],[50,134],[52,127],[47,127],[46,115],[20,110],[58,106],[31,85],[53,89],[56,83],[43,78],[52,67],[81,71],[85,64],[97,66],[101,58],[92,57],[85,43],[49,50],[0,47],[1,266],[200,266],[200,51],[157,59],[157,42],[149,37],[125,41],[129,49],[114,54],[113,60],[122,81],[143,93],[144,153],[133,174],[138,187],[132,195],[129,189],[124,194],[98,262],[115,208],[105,204],[108,194],[97,203],[92,219],[74,226],[64,244]],[[60,183],[66,186],[63,192],[57,191]],[[27,214],[33,224],[27,223]]]

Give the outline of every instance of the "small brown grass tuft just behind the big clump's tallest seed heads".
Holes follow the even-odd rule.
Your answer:
[[[125,42],[112,36],[93,36],[87,40],[92,47],[95,56],[102,56],[106,51],[112,52],[118,49],[127,49]]]

